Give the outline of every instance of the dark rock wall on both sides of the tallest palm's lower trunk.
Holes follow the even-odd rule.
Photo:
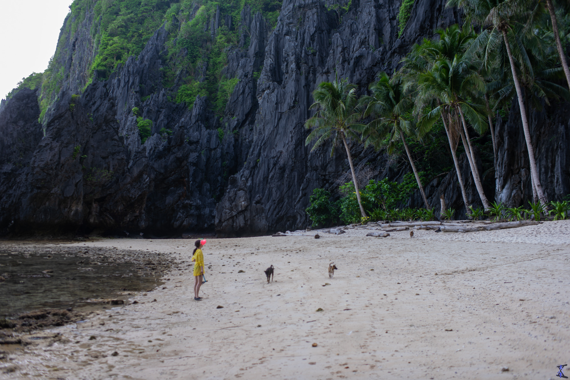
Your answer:
[[[543,104],[528,113],[532,146],[540,184],[548,200],[561,201],[570,194],[570,103]],[[508,121],[499,118],[497,137],[496,200],[507,207],[534,201],[528,150],[519,104],[512,101]]]

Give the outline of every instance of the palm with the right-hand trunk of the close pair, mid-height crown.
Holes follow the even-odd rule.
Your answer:
[[[421,73],[418,76],[418,85],[422,93],[420,98],[435,97],[441,103],[427,113],[424,118],[424,125],[433,123],[435,119],[442,116],[444,111],[449,117],[458,119],[450,125],[459,127],[457,132],[461,136],[463,147],[465,147],[475,187],[484,209],[487,210],[491,204],[483,191],[481,177],[479,177],[479,171],[475,164],[475,153],[467,130],[467,120],[479,134],[483,134],[486,129],[482,106],[467,101],[465,96],[465,94],[469,95],[477,90],[484,90],[484,82],[475,69],[476,65],[467,63],[461,55],[455,55],[452,61],[438,60],[431,70]]]

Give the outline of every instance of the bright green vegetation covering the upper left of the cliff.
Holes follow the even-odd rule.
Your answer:
[[[96,77],[108,79],[129,56],[137,56],[154,32],[162,25],[169,33],[168,52],[162,67],[165,88],[174,84],[178,75],[185,84],[173,98],[191,108],[197,95],[207,96],[214,110],[222,114],[236,78],[222,74],[227,53],[238,48],[239,26],[244,7],[253,14],[261,12],[274,27],[282,1],[279,0],[75,0],[64,20],[55,54],[44,73],[33,73],[18,88],[40,88],[40,122],[48,107],[56,100],[63,82],[68,80],[64,65],[68,58],[66,44],[89,28],[92,50],[96,51],[80,90]],[[211,31],[219,7],[219,28]],[[226,25],[227,23],[227,25]],[[246,38],[243,48],[249,46]],[[205,70],[204,70],[205,68]],[[9,94],[9,97],[13,92]]]

